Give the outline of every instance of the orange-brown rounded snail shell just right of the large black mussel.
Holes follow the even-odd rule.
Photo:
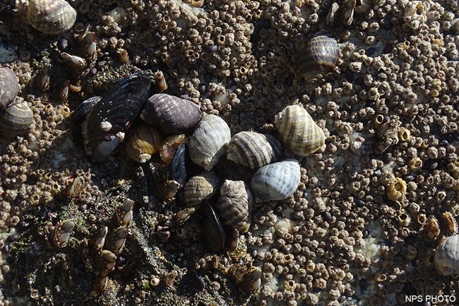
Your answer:
[[[154,126],[139,124],[126,139],[126,155],[138,163],[145,163],[160,150],[162,135]]]

